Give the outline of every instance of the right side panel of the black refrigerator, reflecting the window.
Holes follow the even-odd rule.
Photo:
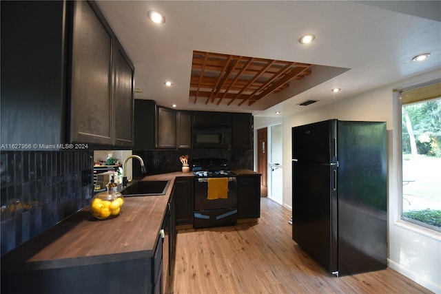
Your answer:
[[[338,122],[340,275],[387,267],[386,123]]]

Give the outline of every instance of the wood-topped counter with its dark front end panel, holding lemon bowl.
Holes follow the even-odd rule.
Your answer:
[[[1,293],[160,293],[161,226],[176,177],[163,196],[126,197],[119,216],[85,207],[1,258]]]

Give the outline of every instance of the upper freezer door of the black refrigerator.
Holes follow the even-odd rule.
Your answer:
[[[336,162],[337,120],[292,128],[292,158],[304,162]]]

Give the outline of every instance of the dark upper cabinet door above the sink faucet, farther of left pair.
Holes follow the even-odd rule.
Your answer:
[[[134,67],[119,43],[114,56],[115,145],[131,147],[134,117]]]

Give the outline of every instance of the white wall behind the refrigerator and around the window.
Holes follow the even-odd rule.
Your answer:
[[[400,220],[401,143],[394,133],[397,127],[393,123],[394,111],[399,105],[393,102],[393,89],[439,78],[440,71],[431,72],[334,105],[283,118],[283,205],[288,208],[292,207],[291,127],[330,118],[387,122],[389,266],[435,293],[441,293],[441,233]],[[265,125],[268,120],[255,116],[254,125]]]

